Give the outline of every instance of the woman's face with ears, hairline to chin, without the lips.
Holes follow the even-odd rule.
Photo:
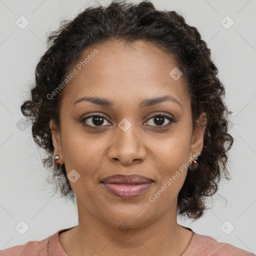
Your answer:
[[[176,66],[153,44],[111,40],[84,50],[70,69],[77,73],[63,91],[60,129],[52,121],[50,126],[54,155],[73,176],[69,182],[78,214],[114,226],[142,226],[166,213],[176,216],[187,163],[203,144],[203,131],[192,133],[185,81],[169,74]],[[151,101],[143,105],[145,100]],[[121,198],[101,183],[115,174],[142,175],[153,182],[139,195]]]

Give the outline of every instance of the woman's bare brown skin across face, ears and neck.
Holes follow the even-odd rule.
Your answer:
[[[60,233],[59,242],[69,256],[182,255],[192,237],[176,219],[177,195],[187,169],[154,202],[148,198],[192,159],[193,152],[202,150],[204,129],[192,133],[185,81],[169,75],[177,65],[154,44],[111,39],[86,48],[77,63],[95,48],[98,53],[64,88],[60,128],[50,121],[57,162],[65,163],[67,174],[75,169],[80,175],[70,182],[76,194],[78,225]],[[164,95],[175,97],[181,106],[162,101],[139,107],[143,99]],[[74,104],[84,96],[106,98],[114,106],[89,101]],[[158,124],[151,118],[162,112],[175,122],[164,118]],[[88,113],[105,119],[99,125],[93,117],[84,120],[96,127],[90,128],[79,122]],[[131,124],[126,131],[118,126],[123,118]],[[205,128],[205,113],[198,121]],[[139,174],[154,182],[139,196],[121,199],[100,184],[113,174]]]

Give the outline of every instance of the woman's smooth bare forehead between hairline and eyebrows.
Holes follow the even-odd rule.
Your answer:
[[[75,101],[81,96],[98,96],[113,101],[132,101],[170,94],[187,101],[188,93],[182,75],[170,75],[177,64],[153,43],[144,40],[125,43],[108,40],[82,51],[69,72],[76,70],[65,87],[64,96]]]

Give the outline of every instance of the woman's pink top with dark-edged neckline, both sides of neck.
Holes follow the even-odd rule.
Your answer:
[[[186,227],[191,230],[190,228]],[[61,229],[40,241],[28,241],[21,245],[0,250],[0,256],[67,256],[61,247],[58,234],[70,228]],[[193,232],[193,230],[191,230]],[[229,243],[193,232],[188,247],[182,256],[253,256],[254,254]]]

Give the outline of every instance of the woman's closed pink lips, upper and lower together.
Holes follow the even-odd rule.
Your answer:
[[[100,182],[108,191],[122,199],[134,198],[142,194],[153,180],[141,175],[113,175]]]

